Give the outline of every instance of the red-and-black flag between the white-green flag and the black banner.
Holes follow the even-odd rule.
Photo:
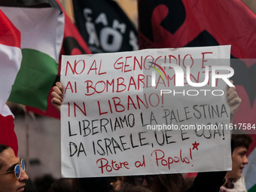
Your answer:
[[[62,6],[61,6],[62,7]],[[64,28],[64,38],[62,43],[62,48],[59,55],[59,63],[61,63],[61,56],[62,55],[79,55],[79,54],[91,54],[87,44],[85,43],[84,39],[82,38],[80,32],[78,31],[77,27],[74,23],[72,23],[72,20],[68,17],[66,14],[66,11],[62,8],[62,12],[65,15],[65,28]],[[53,86],[55,86],[56,81],[59,81],[60,77],[60,67],[58,74],[56,76],[56,80],[53,83]],[[53,91],[53,87],[50,90],[50,93]],[[49,94],[47,102],[47,110],[42,111],[40,108],[34,108],[26,106],[27,111],[32,111],[35,114],[40,114],[47,117],[54,117],[60,119],[60,113],[59,111],[54,108],[50,100],[52,99],[52,96]]]

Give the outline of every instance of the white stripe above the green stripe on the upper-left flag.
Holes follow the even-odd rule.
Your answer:
[[[20,47],[22,49],[41,51],[55,59],[56,63],[59,62],[59,51],[62,47],[64,31],[64,14],[59,14],[59,11],[54,8],[0,8],[20,30]],[[23,19],[20,20],[20,18]],[[53,18],[57,18],[57,20],[53,20]],[[33,29],[28,30],[31,27]],[[49,42],[55,46],[49,46]]]

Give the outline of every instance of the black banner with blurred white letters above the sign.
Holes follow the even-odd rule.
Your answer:
[[[138,50],[137,30],[116,2],[73,0],[75,23],[92,53]]]

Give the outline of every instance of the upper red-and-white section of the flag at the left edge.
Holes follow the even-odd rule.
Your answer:
[[[11,93],[22,59],[20,32],[0,10],[0,114]],[[0,121],[1,122],[1,121]]]

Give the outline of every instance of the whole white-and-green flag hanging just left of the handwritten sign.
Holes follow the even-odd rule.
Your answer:
[[[46,110],[58,72],[64,15],[55,8],[0,9],[20,31],[23,55],[8,101]]]

